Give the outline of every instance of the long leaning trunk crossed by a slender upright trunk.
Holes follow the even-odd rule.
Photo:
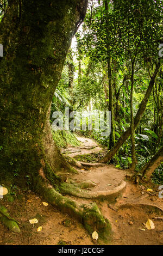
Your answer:
[[[157,64],[156,67],[155,67],[155,71],[153,73],[153,76],[151,77],[151,81],[149,82],[149,86],[148,86],[147,92],[146,92],[145,96],[143,97],[143,100],[140,103],[140,107],[139,107],[139,109],[138,109],[138,111],[137,111],[137,113],[135,115],[135,118],[134,118],[134,130],[139,125],[140,120],[142,118],[142,115],[145,112],[149,96],[151,95],[152,88],[154,86],[156,75],[159,72],[159,68],[160,68],[160,65]],[[120,149],[120,147],[123,145],[123,143],[126,142],[127,138],[130,136],[130,131],[131,131],[130,129],[131,129],[131,127],[129,127],[127,129],[127,131],[124,132],[121,135],[121,137],[118,139],[118,141],[116,142],[114,147],[112,147],[112,149],[105,155],[105,157],[101,160],[101,162],[107,163],[107,162],[109,162],[112,159],[112,157],[117,153],[118,149]]]

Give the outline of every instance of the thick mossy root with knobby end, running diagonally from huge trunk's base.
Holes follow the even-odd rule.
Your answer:
[[[37,182],[34,190],[42,194],[47,202],[61,210],[61,212],[76,218],[90,234],[96,228],[101,240],[108,241],[111,239],[111,224],[103,217],[96,203],[78,204],[75,200],[62,196],[51,185],[42,180]]]

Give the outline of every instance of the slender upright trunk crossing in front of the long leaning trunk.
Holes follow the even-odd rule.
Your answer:
[[[136,166],[136,153],[135,153],[135,137],[134,137],[134,113],[133,113],[133,92],[134,92],[134,64],[132,64],[131,71],[131,92],[130,92],[130,114],[131,114],[131,155],[132,155],[132,163],[130,166],[131,170],[135,170]]]

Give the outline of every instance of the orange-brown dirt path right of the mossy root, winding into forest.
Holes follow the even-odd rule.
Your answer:
[[[79,140],[84,142],[85,147],[87,145],[89,147],[95,145],[96,149],[100,148],[92,139],[80,137]],[[85,144],[85,141],[88,141],[88,144]],[[85,149],[80,149],[80,153],[77,154],[86,154],[85,152]],[[87,150],[87,154],[91,153],[92,149],[89,152]],[[72,153],[71,155],[71,151],[69,151],[69,155],[71,156],[76,156],[77,154]],[[91,188],[91,191],[113,190],[125,180],[127,186],[126,190],[122,193],[122,197],[116,198],[114,202],[109,202],[109,200],[100,202],[96,199],[99,209],[101,209],[103,215],[111,222],[113,231],[111,244],[162,245],[163,221],[154,219],[155,217],[163,216],[163,202],[158,197],[159,191],[155,187],[153,192],[148,192],[148,187],[142,185],[137,186],[133,181],[127,181],[126,175],[128,174],[126,170],[117,169],[110,164],[104,167],[80,170],[79,174],[70,175],[70,178],[75,182],[84,180],[95,182],[97,186]],[[86,203],[88,201],[84,198],[74,197],[74,199],[80,203]],[[155,225],[154,230],[147,230],[145,227],[148,219],[153,220]]]

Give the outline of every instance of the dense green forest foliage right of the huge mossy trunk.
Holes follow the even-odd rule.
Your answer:
[[[134,63],[134,116],[139,109],[155,63],[161,62],[158,46],[162,36],[161,1],[103,1],[89,9],[83,25],[84,35],[78,34],[78,53],[83,69],[75,88],[76,101],[83,108],[106,110],[109,103],[107,61],[111,57],[112,97],[116,141],[130,126],[131,71]],[[162,68],[162,66],[161,66]],[[100,95],[99,95],[99,94]],[[90,104],[91,102],[91,104]],[[162,143],[162,69],[156,78],[153,95],[135,131],[137,166],[139,171]],[[110,138],[102,131],[83,131],[108,147]],[[117,167],[128,168],[132,162],[130,138],[114,157]],[[159,180],[161,167],[155,173]],[[157,181],[158,182],[158,181]]]

